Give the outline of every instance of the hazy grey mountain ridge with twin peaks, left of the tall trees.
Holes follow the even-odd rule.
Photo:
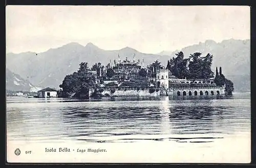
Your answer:
[[[92,43],[88,43],[86,46],[69,43],[44,53],[9,53],[6,56],[6,66],[35,85],[58,87],[66,75],[78,70],[79,63],[88,62],[90,67],[96,62],[106,65],[110,60],[112,63],[114,59],[118,60],[118,54],[122,60],[125,57],[132,60],[135,54],[136,59],[140,59],[140,61],[144,59],[145,65],[157,59],[162,61],[168,59],[168,56],[144,54],[130,47],[104,51]]]

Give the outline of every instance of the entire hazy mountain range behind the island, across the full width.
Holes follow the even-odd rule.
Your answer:
[[[189,54],[195,52],[200,52],[203,56],[207,53],[212,54],[214,56],[212,63],[214,72],[216,66],[221,66],[226,77],[237,81],[234,82],[236,91],[250,91],[250,40],[229,39],[219,43],[206,40],[184,47],[180,51],[184,53],[185,57],[189,57]],[[33,83],[33,86],[58,88],[66,75],[78,70],[81,62],[88,62],[90,67],[96,62],[106,65],[110,60],[112,63],[114,59],[118,60],[118,55],[121,60],[124,60],[125,57],[132,60],[135,54],[135,58],[143,60],[145,66],[156,60],[166,66],[167,60],[175,57],[175,53],[180,51],[146,54],[131,47],[120,50],[102,50],[92,43],[83,46],[73,42],[42,53],[8,53],[6,67],[26,81]],[[241,77],[245,81],[239,80]]]

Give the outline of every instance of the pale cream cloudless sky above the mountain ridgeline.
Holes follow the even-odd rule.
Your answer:
[[[248,6],[7,6],[6,52],[45,52],[70,42],[142,53],[211,39],[250,39]]]

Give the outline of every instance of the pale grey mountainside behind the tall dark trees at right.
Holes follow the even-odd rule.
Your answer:
[[[204,43],[184,47],[181,51],[185,57],[195,52],[203,56],[212,54],[212,71],[215,72],[216,66],[221,66],[226,78],[234,83],[235,91],[250,91],[250,40],[229,39],[219,43],[206,40]],[[172,56],[177,52],[173,52]]]

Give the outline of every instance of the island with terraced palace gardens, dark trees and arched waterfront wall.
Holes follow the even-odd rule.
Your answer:
[[[88,99],[90,97],[127,96],[200,96],[232,95],[232,81],[225,78],[222,67],[211,70],[213,56],[201,53],[184,57],[183,52],[167,60],[166,67],[156,60],[144,66],[144,60],[124,58],[104,66],[100,62],[89,68],[81,62],[79,69],[67,75],[59,85],[60,97]]]

